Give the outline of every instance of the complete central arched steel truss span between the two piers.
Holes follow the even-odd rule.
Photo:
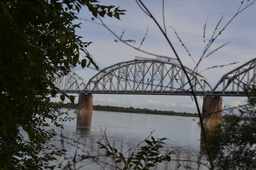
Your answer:
[[[212,90],[204,76],[185,67],[196,95]],[[135,59],[102,69],[87,83],[88,94],[191,95],[191,87],[177,62]]]

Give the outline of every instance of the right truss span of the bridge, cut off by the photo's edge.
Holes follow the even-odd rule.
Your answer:
[[[256,58],[224,74],[212,89],[215,96],[244,96],[247,87],[255,86]]]

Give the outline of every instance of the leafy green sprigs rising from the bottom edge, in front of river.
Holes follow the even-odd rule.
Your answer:
[[[106,157],[111,157],[113,161],[115,162],[115,168],[116,169],[143,169],[147,170],[150,167],[156,166],[159,162],[168,161],[171,160],[171,155],[174,154],[174,152],[169,152],[167,154],[161,154],[160,149],[164,146],[164,140],[166,138],[161,139],[155,139],[153,136],[150,139],[145,139],[145,146],[141,146],[138,148],[138,151],[135,152],[137,148],[134,149],[134,151],[129,155],[129,157],[125,158],[124,153],[118,152],[116,148],[111,146],[106,140],[105,144],[102,144],[100,142],[100,148],[104,149],[106,151]]]

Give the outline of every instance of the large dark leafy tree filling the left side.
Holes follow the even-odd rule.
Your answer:
[[[92,58],[77,36],[74,24],[85,6],[97,17],[120,18],[124,10],[95,0],[24,0],[0,2],[0,169],[53,169],[50,160],[61,155],[49,145],[61,114],[51,108],[56,75],[68,73]],[[86,55],[79,60],[80,53]],[[95,64],[94,64],[95,65]],[[62,94],[61,100],[74,97]],[[50,121],[47,121],[50,120]]]

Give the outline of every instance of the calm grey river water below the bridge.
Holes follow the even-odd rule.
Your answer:
[[[99,149],[97,141],[104,143],[104,131],[109,143],[127,154],[131,152],[129,149],[134,148],[147,138],[150,132],[154,131],[152,134],[154,138],[168,138],[165,141],[163,152],[174,151],[175,155],[172,155],[173,160],[170,164],[161,163],[152,169],[198,169],[196,163],[200,157],[198,118],[111,111],[93,111],[92,117],[81,117],[76,115],[75,110],[63,109],[63,111],[68,111],[74,120],[63,122],[64,129],[56,129],[58,135],[52,140],[52,143],[67,150],[65,157],[58,159],[58,163],[62,163],[64,166],[68,162],[72,162],[75,155],[76,159],[81,158],[81,155],[103,155],[104,150]],[[76,163],[76,168],[102,169],[100,166],[103,166],[108,169],[104,160],[107,161],[106,158],[99,157],[101,164],[99,165],[99,162],[95,160],[84,159]],[[205,162],[204,157],[200,161]],[[199,169],[207,168],[201,165]]]

